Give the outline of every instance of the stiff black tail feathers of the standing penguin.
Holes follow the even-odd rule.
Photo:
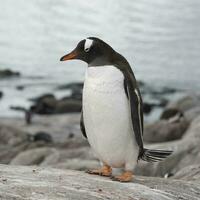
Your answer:
[[[147,162],[159,162],[167,158],[173,151],[143,149],[141,159]]]

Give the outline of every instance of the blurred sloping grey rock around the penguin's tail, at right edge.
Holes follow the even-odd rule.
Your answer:
[[[150,149],[169,149],[173,154],[162,162],[139,162],[135,173],[146,176],[164,176],[177,173],[191,164],[200,164],[200,116],[191,123],[182,139],[166,143],[146,145]]]

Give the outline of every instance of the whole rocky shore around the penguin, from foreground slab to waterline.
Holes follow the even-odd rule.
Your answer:
[[[71,199],[82,195],[82,199],[200,199],[199,95],[185,94],[169,102],[178,91],[152,89],[140,82],[145,119],[155,109],[161,112],[157,120],[145,120],[145,146],[174,153],[160,163],[140,161],[133,183],[119,184],[68,171],[99,166],[79,128],[82,86],[62,85],[57,89],[71,91],[65,98],[45,94],[31,99],[33,104],[28,109],[13,107],[23,111],[25,119],[0,118],[0,163],[6,164],[0,166],[0,199],[30,199],[28,191],[32,191],[32,199],[66,199],[66,194]],[[35,168],[18,165],[37,166],[39,173],[36,176]],[[55,178],[59,176],[61,179]],[[83,184],[87,187],[83,188]],[[6,193],[11,187],[13,193]]]

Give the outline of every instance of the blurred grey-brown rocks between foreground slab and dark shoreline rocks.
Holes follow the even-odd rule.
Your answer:
[[[151,148],[174,150],[161,163],[140,162],[136,174],[176,174],[200,162],[200,105],[198,96],[187,96],[169,104],[164,119],[145,125],[144,141]],[[178,110],[178,111],[177,111]],[[0,162],[85,170],[98,166],[79,129],[80,114],[35,116],[31,124],[19,118],[1,118]]]

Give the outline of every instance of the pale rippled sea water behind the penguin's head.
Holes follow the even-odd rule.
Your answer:
[[[44,93],[60,98],[58,85],[83,81],[85,63],[59,58],[88,36],[124,55],[149,86],[199,90],[199,9],[198,0],[2,1],[0,69],[21,76],[0,79],[0,115],[18,116],[11,105],[28,107]]]

